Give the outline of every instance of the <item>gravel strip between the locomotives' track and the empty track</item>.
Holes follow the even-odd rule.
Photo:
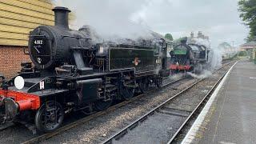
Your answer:
[[[100,118],[95,118],[84,125],[66,131],[65,134],[60,134],[54,138],[48,139],[42,143],[98,143],[104,141],[110,135],[115,134],[118,130],[128,126],[137,118],[141,117],[146,112],[150,111],[155,106],[166,101],[174,94],[195,82],[192,80],[184,80],[175,86],[177,90],[173,90],[172,86],[167,86],[162,90],[147,94],[145,97],[138,99],[136,102],[131,102],[126,106],[122,106],[118,110],[114,110],[110,114],[103,115]],[[174,85],[173,85],[174,86]]]

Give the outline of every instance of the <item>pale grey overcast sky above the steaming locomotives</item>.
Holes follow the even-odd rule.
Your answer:
[[[129,33],[130,23],[174,38],[190,32],[210,36],[211,46],[229,42],[238,46],[248,33],[238,12],[238,0],[54,0],[56,6],[67,6],[76,15],[73,28],[85,24],[96,30]],[[127,24],[128,23],[128,24]],[[116,32],[117,32],[116,31]]]

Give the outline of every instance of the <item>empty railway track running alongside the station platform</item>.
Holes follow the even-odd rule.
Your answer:
[[[226,65],[229,65],[231,62],[226,62]],[[224,67],[224,66],[223,66]],[[222,68],[218,69],[221,70]],[[216,70],[216,71],[218,71]],[[222,74],[220,78],[218,78],[217,82],[214,82],[214,85],[208,90],[207,94],[205,94],[202,98],[200,98],[200,102],[194,109],[182,109],[182,106],[176,106],[170,104],[174,99],[182,97],[182,95],[186,95],[190,93],[190,90],[198,85],[199,82],[202,82],[205,78],[199,79],[197,82],[194,82],[192,85],[188,86],[185,90],[182,90],[178,94],[175,94],[173,97],[166,100],[166,102],[162,102],[159,106],[155,107],[153,110],[150,110],[147,114],[144,114],[141,118],[138,118],[136,121],[130,123],[129,126],[126,126],[122,130],[118,131],[118,133],[113,134],[110,138],[106,139],[106,141],[102,143],[126,143],[126,142],[134,142],[134,143],[172,143],[174,139],[178,137],[178,135],[182,132],[183,128],[187,126],[187,124],[191,121],[192,118],[196,117],[196,114],[201,110],[201,108],[205,105],[210,95],[215,90],[218,83],[225,76],[226,72]],[[185,97],[184,97],[185,99]],[[189,102],[190,102],[190,98]],[[193,99],[193,98],[192,98]],[[193,101],[191,99],[191,101]],[[180,100],[182,101],[182,100]],[[187,100],[183,100],[186,104],[190,104],[186,102]],[[192,103],[192,102],[191,102]],[[184,105],[184,107],[186,107]],[[170,120],[167,120],[170,119]],[[182,121],[182,123],[178,123],[178,127],[174,121]],[[156,124],[157,125],[154,125]],[[174,124],[171,124],[174,122]],[[169,127],[174,130],[169,130]],[[167,130],[161,132],[160,130]],[[156,130],[157,132],[154,132]],[[161,139],[162,135],[165,135],[166,138],[162,138],[162,141],[158,141]],[[155,137],[155,138],[151,138]],[[157,139],[157,141],[154,141]]]

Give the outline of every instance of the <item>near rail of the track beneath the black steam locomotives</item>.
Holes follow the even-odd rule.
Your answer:
[[[182,77],[182,78],[178,78],[178,79],[176,79],[174,81],[171,81],[171,82],[166,82],[166,83],[164,83],[162,85],[162,88],[166,87],[166,86],[170,86],[170,85],[172,85],[174,83],[177,83],[177,82],[181,82],[182,80],[185,80],[186,78],[187,77]],[[152,91],[153,90],[150,90],[146,94],[149,94]],[[110,108],[108,108],[107,110],[100,111],[100,112],[97,112],[95,114],[91,114],[91,115],[87,116],[86,118],[81,118],[81,119],[79,119],[76,122],[71,122],[70,124],[67,124],[66,126],[62,126],[61,128],[59,128],[58,130],[55,130],[52,133],[42,134],[42,135],[39,135],[38,137],[31,138],[30,140],[28,140],[26,142],[22,142],[22,143],[23,144],[26,144],[26,143],[36,143],[36,142],[41,142],[43,140],[46,140],[48,138],[52,138],[55,135],[61,134],[62,132],[65,132],[66,130],[70,130],[70,129],[74,128],[75,126],[82,125],[83,123],[88,122],[91,119],[98,118],[99,116],[102,116],[104,114],[109,114],[111,111],[114,111],[114,110],[116,110],[116,109],[118,109],[118,108],[120,108],[122,106],[125,106],[126,104],[128,104],[130,102],[134,102],[138,98],[142,98],[142,96],[144,96],[144,95],[145,94],[139,94],[138,96],[135,96],[134,98],[131,98],[129,101],[120,102],[120,103],[118,103],[118,104],[116,104],[114,106],[110,106]]]

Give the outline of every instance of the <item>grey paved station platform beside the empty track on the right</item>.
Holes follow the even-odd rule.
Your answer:
[[[256,65],[239,61],[207,111],[197,132],[189,131],[182,143],[256,143]]]

